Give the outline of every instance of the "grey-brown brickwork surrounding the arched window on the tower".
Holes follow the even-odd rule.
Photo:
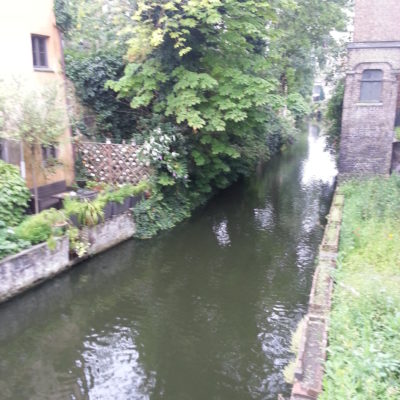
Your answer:
[[[381,57],[378,58],[385,59],[385,54],[387,57],[387,50],[382,50]],[[389,63],[358,63],[360,55],[353,58],[356,62],[355,68],[349,70],[346,78],[339,156],[339,173],[342,179],[356,175],[387,175],[390,172],[397,79]],[[349,59],[352,60],[352,57]],[[380,102],[359,101],[364,69],[381,69],[384,72]]]

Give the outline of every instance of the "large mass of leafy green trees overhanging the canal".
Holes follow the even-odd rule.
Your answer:
[[[155,174],[148,236],[149,221],[170,226],[291,140],[346,1],[70,2],[67,73],[95,133],[133,136]]]

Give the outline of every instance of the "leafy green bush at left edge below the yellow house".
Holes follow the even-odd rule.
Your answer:
[[[0,221],[18,225],[31,197],[17,167],[0,160]]]

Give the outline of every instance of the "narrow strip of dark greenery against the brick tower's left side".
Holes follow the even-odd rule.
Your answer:
[[[342,130],[342,113],[344,99],[344,79],[341,79],[328,101],[325,117],[328,122],[328,138],[331,144],[338,147]]]

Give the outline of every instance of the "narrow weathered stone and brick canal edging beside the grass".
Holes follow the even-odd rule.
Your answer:
[[[322,392],[333,292],[332,272],[336,268],[339,250],[343,205],[344,196],[336,190],[320,247],[308,314],[301,334],[291,400],[315,400]]]

